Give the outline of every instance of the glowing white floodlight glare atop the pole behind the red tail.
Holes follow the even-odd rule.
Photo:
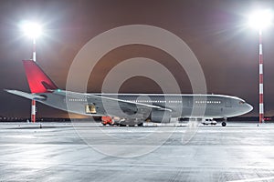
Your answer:
[[[42,34],[42,26],[32,22],[25,22],[22,25],[22,30],[25,33],[25,35],[34,39]]]

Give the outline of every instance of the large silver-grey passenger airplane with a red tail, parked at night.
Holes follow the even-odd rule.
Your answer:
[[[117,123],[120,125],[142,126],[147,119],[154,123],[170,123],[172,117],[177,117],[197,121],[223,118],[222,126],[227,126],[227,117],[244,115],[253,109],[237,96],[72,92],[58,88],[37,62],[23,60],[23,65],[31,93],[11,89],[5,89],[6,92],[71,113],[119,118]]]

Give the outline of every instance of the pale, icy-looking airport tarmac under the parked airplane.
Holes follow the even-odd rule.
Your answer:
[[[0,144],[0,181],[274,181],[273,124],[0,123]]]

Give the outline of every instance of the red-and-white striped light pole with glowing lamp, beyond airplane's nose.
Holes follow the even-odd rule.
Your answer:
[[[258,122],[264,121],[264,87],[263,87],[263,51],[262,30],[272,24],[272,14],[269,10],[260,10],[249,16],[249,25],[258,30]]]

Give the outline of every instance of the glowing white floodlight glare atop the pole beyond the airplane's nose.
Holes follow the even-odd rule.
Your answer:
[[[254,12],[249,16],[249,25],[258,30],[264,29],[272,24],[273,15],[269,10]]]

